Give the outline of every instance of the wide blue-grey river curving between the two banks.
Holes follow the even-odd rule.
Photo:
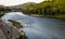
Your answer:
[[[22,12],[10,12],[2,18],[20,22],[28,39],[65,39],[65,22],[61,20],[32,17]]]

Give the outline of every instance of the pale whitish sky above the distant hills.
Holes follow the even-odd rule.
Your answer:
[[[39,2],[42,2],[42,1],[44,1],[44,0],[0,0],[0,4],[16,5],[16,4],[23,4],[23,3],[26,3],[26,2],[39,3]]]

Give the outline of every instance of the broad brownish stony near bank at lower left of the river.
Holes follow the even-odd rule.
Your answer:
[[[6,39],[21,39],[23,37],[24,39],[28,39],[23,28],[18,27],[21,27],[20,24],[12,25],[10,22],[5,23],[0,18],[0,29],[2,30]]]

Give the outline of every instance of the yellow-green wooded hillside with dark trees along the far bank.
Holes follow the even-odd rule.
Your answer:
[[[22,11],[25,14],[39,14],[39,15],[50,15],[51,17],[63,17],[65,18],[65,0],[48,0],[41,3],[29,4],[24,6]],[[61,16],[63,15],[63,16]]]

